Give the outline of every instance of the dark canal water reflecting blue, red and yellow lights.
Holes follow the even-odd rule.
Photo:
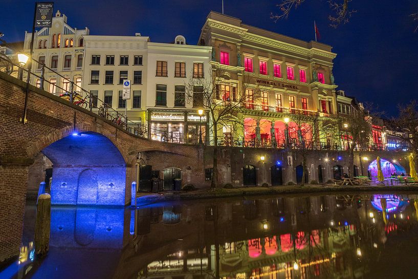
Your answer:
[[[26,209],[19,262],[1,278],[418,278],[411,195],[266,197],[139,208],[57,207],[48,256]]]

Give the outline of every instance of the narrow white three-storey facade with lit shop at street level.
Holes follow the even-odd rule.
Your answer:
[[[201,129],[205,138],[207,117],[197,112],[203,104],[187,98],[186,87],[191,79],[211,77],[211,53],[212,47],[187,45],[181,35],[173,44],[148,42],[146,109],[151,139],[196,143]]]

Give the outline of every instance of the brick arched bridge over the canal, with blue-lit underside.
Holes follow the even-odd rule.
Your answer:
[[[39,171],[33,168],[38,161],[50,160],[53,165],[54,204],[129,203],[138,152],[140,164],[158,170],[193,166],[183,179],[204,181],[203,164],[197,162],[203,156],[196,146],[135,136],[33,86],[27,123],[22,124],[25,89],[25,82],[0,73],[0,261],[18,253],[28,181],[29,187],[37,187],[45,180],[45,172],[43,177],[31,173]],[[32,176],[41,179],[28,180]]]

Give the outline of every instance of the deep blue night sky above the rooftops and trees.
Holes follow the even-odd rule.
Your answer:
[[[353,0],[358,12],[337,29],[329,27],[331,13],[326,1],[306,0],[287,20],[274,23],[277,1],[224,0],[225,14],[244,23],[302,40],[314,39],[316,20],[321,42],[338,54],[334,76],[338,89],[360,101],[372,101],[388,116],[398,103],[418,99],[418,33],[409,16],[418,2],[406,0]],[[1,0],[0,31],[9,42],[23,40],[32,28],[34,1]],[[196,44],[210,10],[221,12],[222,0],[56,0],[72,27],[90,28],[90,34],[150,36],[151,41],[170,42],[182,34]]]

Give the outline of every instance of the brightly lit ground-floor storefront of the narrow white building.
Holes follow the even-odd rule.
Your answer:
[[[206,114],[189,111],[149,111],[148,131],[152,140],[196,144],[202,129],[206,138]]]

